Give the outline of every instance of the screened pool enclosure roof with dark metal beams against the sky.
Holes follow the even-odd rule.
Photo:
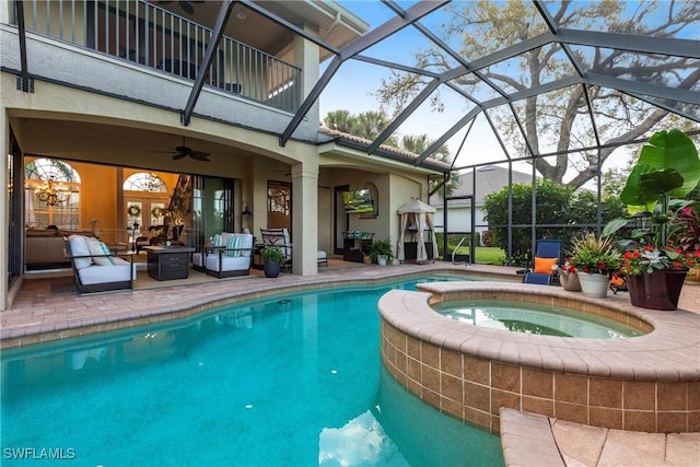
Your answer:
[[[282,144],[316,100],[342,91],[370,96],[351,113],[390,118],[369,153],[427,133],[432,144],[415,163],[447,145],[453,170],[535,159],[542,175],[575,179],[655,130],[700,128],[698,1],[340,3],[371,28],[327,45],[332,59]]]

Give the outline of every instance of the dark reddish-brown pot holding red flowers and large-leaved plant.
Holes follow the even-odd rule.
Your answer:
[[[627,276],[630,301],[651,310],[676,310],[688,270],[656,270],[651,275]]]

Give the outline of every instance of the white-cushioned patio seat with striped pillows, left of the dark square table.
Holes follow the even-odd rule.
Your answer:
[[[63,240],[78,294],[133,289],[136,265],[131,255],[124,259],[98,238],[84,235]]]

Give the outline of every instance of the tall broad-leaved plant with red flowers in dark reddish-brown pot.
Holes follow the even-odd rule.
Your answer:
[[[700,183],[700,159],[682,131],[658,131],[642,148],[620,199],[630,217],[610,221],[604,235],[634,224],[626,245],[625,273],[633,305],[676,310],[680,290],[695,259],[677,244],[678,213],[692,205],[680,199]],[[641,225],[639,220],[645,220]],[[692,254],[695,255],[695,254]]]

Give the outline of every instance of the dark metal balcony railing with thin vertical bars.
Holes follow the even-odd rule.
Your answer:
[[[25,0],[37,34],[183,79],[199,71],[212,30],[142,0]],[[205,84],[295,112],[301,69],[231,37],[219,44]]]

